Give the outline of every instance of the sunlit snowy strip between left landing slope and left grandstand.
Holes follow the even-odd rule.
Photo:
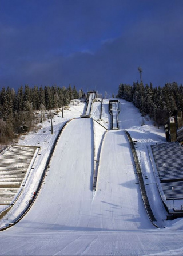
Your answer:
[[[18,200],[11,208],[11,210],[0,219],[0,228],[6,227],[9,223],[14,222],[14,220],[22,214],[22,211],[29,204],[29,200],[32,199],[34,191],[36,191],[41,179],[41,175],[46,165],[47,158],[51,148],[54,145],[55,139],[62,129],[63,125],[72,118],[79,118],[83,113],[83,109],[86,103],[79,102],[79,100],[74,100],[73,103],[69,104],[69,108],[63,111],[64,118],[62,118],[62,113],[58,110],[53,110],[52,112],[57,113],[54,115],[53,119],[53,134],[51,134],[51,121],[46,119],[43,121],[37,131],[30,131],[27,135],[23,135],[19,138],[18,145],[25,146],[41,146],[41,155],[38,156],[34,169],[31,170],[29,179],[26,181],[25,187],[23,187],[21,195]],[[40,127],[41,126],[41,127]],[[7,205],[0,205],[0,212],[7,208]]]

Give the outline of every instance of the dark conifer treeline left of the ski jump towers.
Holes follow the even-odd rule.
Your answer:
[[[77,92],[75,86],[21,86],[15,92],[13,88],[5,87],[0,92],[0,143],[12,141],[21,133],[25,133],[35,125],[35,110],[50,110],[60,108],[70,103],[72,99],[85,96],[82,90]]]

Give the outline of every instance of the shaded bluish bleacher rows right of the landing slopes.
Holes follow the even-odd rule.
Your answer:
[[[151,147],[166,200],[183,199],[182,145],[178,142],[171,142]]]

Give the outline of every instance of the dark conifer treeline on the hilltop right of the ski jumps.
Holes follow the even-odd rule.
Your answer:
[[[183,111],[183,86],[176,82],[164,87],[143,83],[120,84],[118,97],[133,102],[142,114],[149,114],[158,125],[164,125],[173,110]]]

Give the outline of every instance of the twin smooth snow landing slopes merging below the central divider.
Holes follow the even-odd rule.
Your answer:
[[[63,130],[40,195],[15,230],[124,230],[152,227],[123,132],[106,134],[93,197],[92,119],[74,119]],[[82,143],[81,143],[82,142]],[[138,221],[136,221],[138,219]]]

